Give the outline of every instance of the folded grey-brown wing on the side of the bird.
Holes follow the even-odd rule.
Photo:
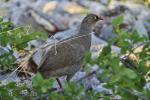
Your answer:
[[[84,57],[85,47],[76,42],[58,43],[42,58],[39,71],[55,70],[79,63]]]

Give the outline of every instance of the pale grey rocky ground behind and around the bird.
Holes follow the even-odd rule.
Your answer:
[[[5,20],[10,20],[15,26],[29,26],[30,31],[46,32],[50,37],[47,43],[59,41],[70,37],[76,33],[78,25],[87,13],[95,13],[105,17],[105,21],[98,22],[92,34],[91,52],[93,59],[103,46],[107,45],[109,39],[116,37],[112,19],[118,15],[123,15],[122,27],[130,32],[131,29],[137,29],[141,36],[150,36],[150,8],[131,2],[119,2],[112,0],[10,0],[9,2],[0,1],[0,15]],[[31,41],[30,46],[38,47],[41,42]],[[113,45],[114,52],[119,53],[120,48]],[[7,51],[3,47],[2,52]],[[16,54],[14,54],[16,55]],[[16,55],[17,56],[17,55]],[[38,58],[39,59],[39,58]],[[98,69],[98,66],[89,67],[92,72]],[[99,73],[101,70],[99,71]],[[86,72],[78,72],[73,80],[78,80],[85,76]],[[15,73],[11,73],[9,80],[19,82]],[[7,75],[0,75],[0,80],[5,80]],[[97,92],[106,92],[111,94],[111,90],[103,88],[103,84],[97,79],[96,74],[82,80],[85,88],[93,88]]]

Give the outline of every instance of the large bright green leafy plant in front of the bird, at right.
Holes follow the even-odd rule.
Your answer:
[[[123,17],[118,16],[112,21],[114,32],[118,37],[103,48],[96,59],[96,64],[104,70],[99,78],[107,83],[105,85],[106,88],[112,89],[114,95],[120,95],[122,99],[137,100],[140,98],[149,100],[148,93],[150,93],[150,90],[143,88],[146,84],[145,75],[150,71],[150,67],[145,66],[146,62],[150,61],[149,39],[147,37],[140,37],[136,30],[127,33],[124,29],[120,29],[119,25],[122,23],[122,20]],[[111,44],[116,42],[121,48],[120,54],[111,52]],[[126,66],[121,63],[120,56],[126,53],[129,53],[129,55],[133,53],[133,45],[139,43],[143,43],[144,47],[142,52],[138,54],[140,55],[139,61],[133,61],[136,68],[126,68]],[[134,66],[131,65],[131,67]]]

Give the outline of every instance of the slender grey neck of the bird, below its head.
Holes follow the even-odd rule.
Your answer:
[[[92,32],[92,25],[88,25],[86,23],[81,23],[78,34],[86,35]]]

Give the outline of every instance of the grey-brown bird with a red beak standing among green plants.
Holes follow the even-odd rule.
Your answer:
[[[66,80],[82,68],[85,53],[90,50],[91,33],[95,23],[103,20],[102,16],[88,14],[82,20],[78,32],[53,45],[49,50],[44,51],[40,64],[33,60],[33,55],[27,62],[26,71],[39,72],[43,78],[67,76]]]

